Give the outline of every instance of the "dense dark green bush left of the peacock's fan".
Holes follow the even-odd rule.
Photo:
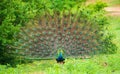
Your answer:
[[[13,62],[8,60],[15,58],[13,55],[15,49],[10,47],[17,40],[14,35],[17,35],[21,25],[25,25],[36,15],[34,13],[35,11],[28,3],[20,0],[0,1],[0,63]]]

